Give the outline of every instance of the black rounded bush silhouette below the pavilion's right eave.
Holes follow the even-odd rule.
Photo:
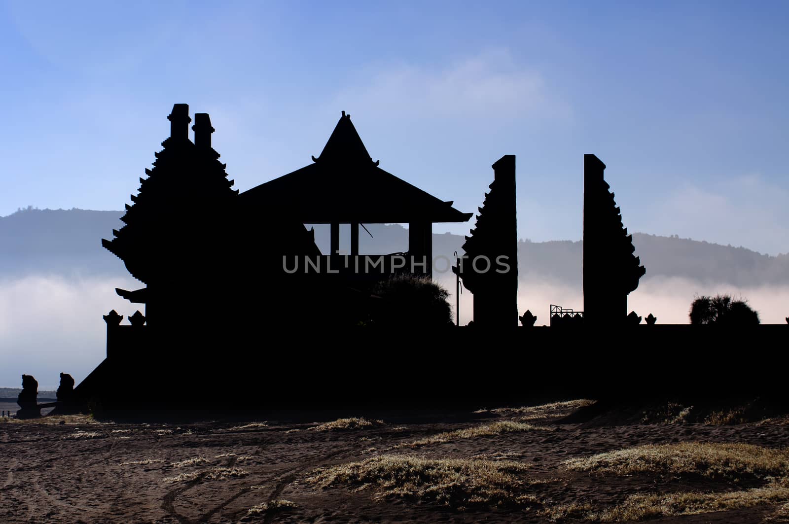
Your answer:
[[[372,293],[380,297],[373,325],[432,328],[454,325],[449,292],[432,279],[417,275],[395,275],[376,284]]]

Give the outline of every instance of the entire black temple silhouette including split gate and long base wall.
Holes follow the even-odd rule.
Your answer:
[[[530,310],[519,315],[515,156],[503,155],[453,267],[473,294],[473,323],[455,328],[421,318],[421,305],[387,302],[376,285],[429,281],[433,224],[473,213],[381,169],[350,115],[342,112],[312,163],[244,193],[232,189],[211,145],[208,114],[194,115],[193,140],[186,104],[167,118],[170,137],[140,178],[124,225],[102,239],[144,284],[116,290],[136,311],[103,316],[107,357],[77,387],[61,373],[56,412],[490,406],[534,393],[594,395],[608,384],[617,394],[657,391],[670,365],[612,375],[606,358],[623,348],[629,355],[636,340],[645,354],[665,354],[680,339],[701,337],[689,336],[690,325],[628,313],[645,268],[595,155],[583,164],[583,311],[551,305],[550,328],[535,326]],[[310,223],[330,225],[329,253]],[[361,231],[372,223],[407,223],[406,252],[360,253]],[[339,250],[341,224],[350,224],[350,253]],[[407,321],[385,321],[411,307]],[[750,333],[715,336],[745,343]],[[588,351],[599,343],[608,352],[602,360]],[[552,348],[580,350],[560,378]],[[480,380],[485,368],[473,354],[496,361],[495,380]],[[528,369],[544,372],[524,384]],[[37,384],[23,376],[25,416],[45,406]],[[705,387],[697,378],[689,384]]]

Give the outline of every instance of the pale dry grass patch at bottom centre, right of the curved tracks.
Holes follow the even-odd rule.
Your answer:
[[[381,455],[361,462],[320,468],[307,481],[320,487],[373,488],[374,498],[436,501],[457,509],[478,505],[537,503],[523,490],[529,466],[522,462]]]

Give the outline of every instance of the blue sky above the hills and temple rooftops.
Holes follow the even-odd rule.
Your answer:
[[[346,110],[462,211],[517,155],[521,238],[581,238],[593,152],[631,231],[787,253],[787,27],[787,2],[3,2],[0,215],[121,209],[173,103],[241,190]]]

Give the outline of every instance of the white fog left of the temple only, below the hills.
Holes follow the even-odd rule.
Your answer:
[[[107,354],[102,315],[144,310],[118,297],[115,287],[139,286],[130,278],[106,277],[0,281],[0,386],[19,387],[22,373],[35,376],[41,389],[56,388],[60,372],[79,383]]]

